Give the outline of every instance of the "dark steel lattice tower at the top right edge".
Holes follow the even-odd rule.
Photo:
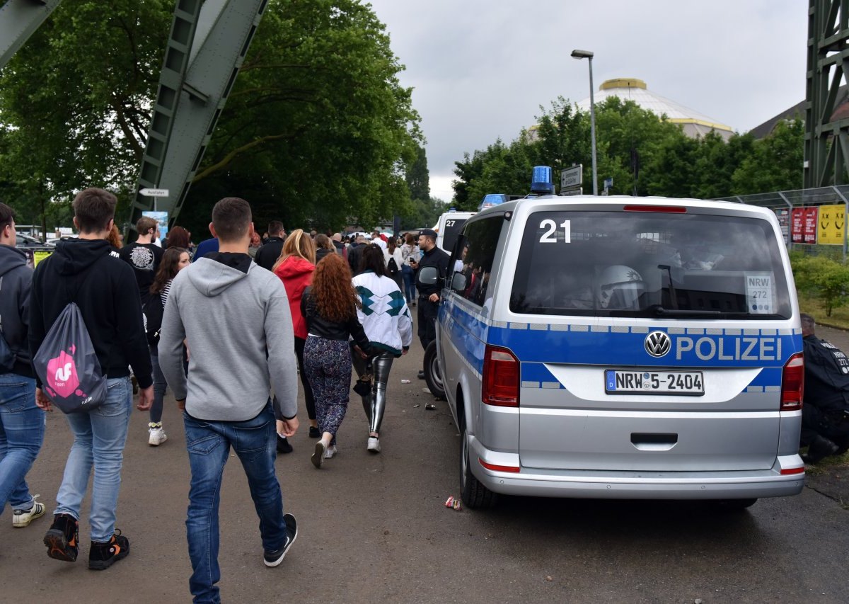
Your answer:
[[[849,74],[849,0],[808,0],[805,188],[849,178],[849,116],[835,115]]]

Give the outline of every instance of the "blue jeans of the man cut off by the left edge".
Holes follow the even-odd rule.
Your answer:
[[[0,375],[0,513],[7,501],[14,510],[32,508],[25,476],[43,440],[44,411],[36,406],[36,381]]]

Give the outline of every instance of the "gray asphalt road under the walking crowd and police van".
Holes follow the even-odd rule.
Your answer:
[[[846,334],[820,335],[849,350]],[[256,514],[231,459],[221,499],[224,601],[849,601],[849,511],[813,488],[735,513],[692,502],[518,497],[492,511],[447,509],[447,496],[458,494],[459,438],[444,402],[424,409],[433,398],[415,377],[422,356],[415,342],[392,370],[380,454],[366,451],[357,398],[339,454],[316,470],[303,414],[294,453],[277,460],[286,511],[299,522],[277,568],[261,562]],[[153,448],[146,414],[132,417],[117,525],[131,553],[94,572],[86,520],[78,562],[52,560],[42,545],[71,441],[63,415],[48,415],[28,477],[48,515],[27,528],[12,528],[9,511],[0,519],[0,601],[189,600],[188,461],[172,398],[164,421],[169,440]]]

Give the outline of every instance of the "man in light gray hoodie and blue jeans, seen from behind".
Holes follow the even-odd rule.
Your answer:
[[[192,479],[188,492],[188,581],[194,601],[219,601],[218,500],[230,448],[245,468],[260,518],[266,566],[283,561],[297,536],[283,513],[274,474],[274,388],[287,437],[298,428],[295,340],[286,290],[250,261],[248,202],[224,198],[212,209],[218,252],[177,274],[160,332],[160,367],[183,409]],[[183,372],[183,339],[189,350]]]

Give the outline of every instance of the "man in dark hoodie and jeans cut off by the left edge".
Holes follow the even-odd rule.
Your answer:
[[[25,480],[42,448],[44,412],[36,406],[26,340],[32,269],[24,252],[15,249],[15,240],[14,212],[0,203],[0,337],[11,353],[6,363],[0,359],[0,512],[8,501],[12,526],[25,527],[45,511]]]

